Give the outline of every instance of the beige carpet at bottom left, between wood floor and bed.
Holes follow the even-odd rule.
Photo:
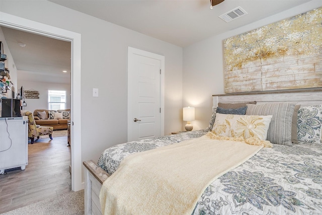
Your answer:
[[[84,209],[84,190],[70,191],[37,203],[11,210],[4,215],[82,215]]]

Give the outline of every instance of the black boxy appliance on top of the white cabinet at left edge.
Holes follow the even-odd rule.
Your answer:
[[[21,117],[20,99],[1,99],[1,117]]]

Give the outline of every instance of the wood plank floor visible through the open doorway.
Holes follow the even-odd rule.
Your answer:
[[[30,141],[29,141],[30,142]],[[71,190],[67,136],[40,138],[28,144],[28,165],[0,175],[0,213]]]

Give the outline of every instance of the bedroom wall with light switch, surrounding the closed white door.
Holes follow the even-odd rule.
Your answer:
[[[83,161],[126,141],[128,46],[165,56],[165,134],[181,128],[181,47],[47,1],[0,1],[0,11],[82,35],[82,133],[75,135]]]

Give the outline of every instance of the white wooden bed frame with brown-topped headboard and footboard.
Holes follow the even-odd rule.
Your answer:
[[[260,103],[269,102],[295,102],[302,106],[322,104],[322,88],[234,93],[223,95],[212,95],[213,106],[217,107],[219,102],[238,103],[257,101]],[[110,176],[97,162],[92,160],[83,162],[85,167],[85,214],[102,214],[99,194],[103,182]]]

